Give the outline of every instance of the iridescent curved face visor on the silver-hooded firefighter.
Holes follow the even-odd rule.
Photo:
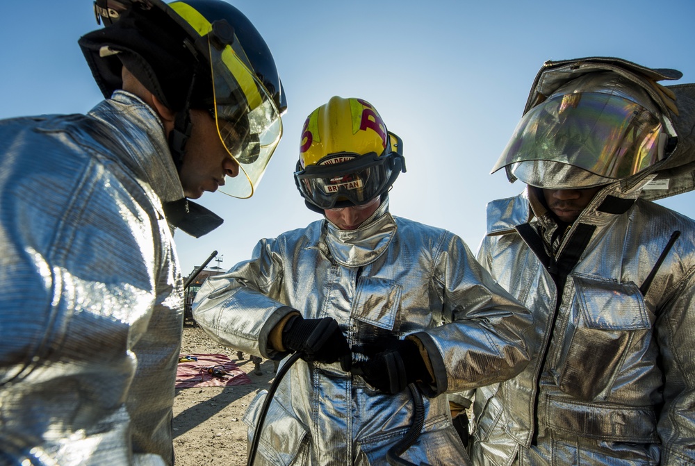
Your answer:
[[[633,101],[600,92],[558,95],[524,115],[492,172],[548,160],[625,179],[661,160],[667,139],[660,120]]]

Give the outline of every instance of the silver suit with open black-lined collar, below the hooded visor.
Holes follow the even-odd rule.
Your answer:
[[[476,394],[476,465],[695,463],[695,223],[619,186],[559,235],[536,188],[489,203],[478,259],[532,310],[536,343],[521,374]]]

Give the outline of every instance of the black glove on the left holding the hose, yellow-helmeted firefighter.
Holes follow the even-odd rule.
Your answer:
[[[305,361],[317,363],[335,363],[350,354],[350,345],[333,317],[290,317],[282,328],[282,346],[290,351],[299,351]]]

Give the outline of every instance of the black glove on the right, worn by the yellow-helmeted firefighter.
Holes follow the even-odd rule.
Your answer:
[[[432,382],[420,349],[412,340],[381,339],[354,349],[368,359],[353,363],[352,374],[362,376],[377,390],[396,394],[405,390],[409,383]]]

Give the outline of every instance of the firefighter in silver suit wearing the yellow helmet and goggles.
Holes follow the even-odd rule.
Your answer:
[[[401,171],[402,142],[377,110],[332,97],[304,123],[295,172],[325,218],[261,240],[197,294],[195,319],[218,342],[302,355],[270,404],[256,465],[386,464],[413,422],[411,383],[425,394],[424,428],[402,460],[469,464],[440,395],[528,363],[529,311],[456,235],[389,213]],[[265,397],[250,404],[250,427]]]

